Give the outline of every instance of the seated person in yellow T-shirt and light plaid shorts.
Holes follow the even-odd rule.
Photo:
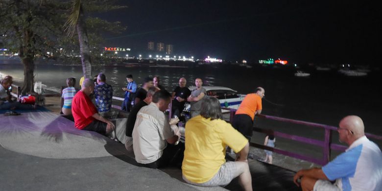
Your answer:
[[[239,176],[243,189],[252,191],[248,140],[221,119],[217,98],[203,99],[200,111],[186,123],[183,179],[193,185],[214,187],[226,186]],[[225,161],[227,145],[238,153],[235,162]]]

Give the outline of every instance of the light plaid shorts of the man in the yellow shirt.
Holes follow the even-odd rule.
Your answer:
[[[240,170],[238,168],[237,163],[228,161],[224,163],[219,171],[215,174],[214,177],[212,177],[211,180],[204,182],[204,183],[194,183],[186,179],[186,177],[183,176],[183,180],[185,180],[187,183],[196,185],[196,186],[202,186],[202,187],[216,187],[216,186],[227,186],[232,179],[236,178],[234,177],[235,174],[238,174],[237,171]]]

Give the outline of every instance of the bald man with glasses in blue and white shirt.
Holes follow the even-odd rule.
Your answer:
[[[381,149],[366,138],[362,119],[347,116],[337,131],[349,148],[322,168],[298,171],[294,183],[303,191],[382,191]]]

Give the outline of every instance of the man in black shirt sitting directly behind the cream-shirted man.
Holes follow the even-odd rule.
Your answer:
[[[157,91],[155,87],[151,87],[147,90],[147,95],[146,98],[144,98],[142,101],[137,103],[132,109],[129,114],[129,117],[127,118],[127,123],[126,123],[126,142],[125,142],[125,147],[126,150],[128,151],[133,151],[133,129],[134,129],[134,124],[135,120],[137,119],[137,114],[141,108],[144,106],[148,105],[152,101],[152,95]]]

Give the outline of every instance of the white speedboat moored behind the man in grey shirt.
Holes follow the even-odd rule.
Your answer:
[[[217,99],[219,99],[221,107],[239,109],[239,105],[241,104],[241,101],[245,97],[245,95],[237,94],[237,91],[232,90],[231,88],[227,88],[227,87],[203,86],[203,88],[206,89],[208,96],[214,96]],[[191,86],[191,87],[189,87],[189,89],[192,91],[192,90],[196,89],[196,87]],[[190,103],[186,102],[185,108],[183,111],[189,112],[190,107],[191,107]]]

